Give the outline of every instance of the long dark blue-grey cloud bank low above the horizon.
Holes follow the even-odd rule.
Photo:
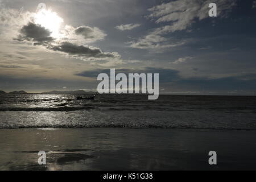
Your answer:
[[[107,73],[110,75],[110,69],[93,69],[90,71],[84,71],[76,73],[76,76],[97,78],[100,73]],[[221,78],[209,78],[209,77],[181,77],[180,72],[175,69],[165,69],[165,68],[152,68],[146,67],[141,69],[132,68],[121,68],[115,69],[115,75],[118,73],[159,73],[159,82],[162,86],[167,86],[166,88],[171,90],[188,90],[192,89],[197,92],[205,91],[225,91],[225,90],[240,90],[240,92],[247,92],[256,89],[254,81],[256,80],[256,75],[252,74],[242,74],[241,76],[229,76]],[[171,88],[170,88],[171,83]],[[242,88],[242,90],[241,90]],[[254,92],[254,91],[253,91]],[[253,93],[255,94],[255,92]]]

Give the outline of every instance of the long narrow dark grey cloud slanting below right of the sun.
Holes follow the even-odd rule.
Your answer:
[[[63,42],[59,46],[49,46],[48,48],[52,49],[53,51],[60,51],[60,52],[68,53],[69,55],[76,55],[81,57],[96,57],[96,58],[101,58],[101,57],[114,58],[115,57],[112,53],[104,53],[97,48],[77,46],[69,42]]]

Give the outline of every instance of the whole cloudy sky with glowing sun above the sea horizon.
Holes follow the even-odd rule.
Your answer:
[[[159,73],[163,94],[256,95],[255,22],[253,0],[0,0],[0,90],[90,91],[115,68]]]

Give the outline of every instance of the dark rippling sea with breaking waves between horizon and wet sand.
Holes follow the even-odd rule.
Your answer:
[[[92,128],[256,129],[256,97],[102,94],[0,95],[0,129]],[[85,96],[84,96],[85,97]]]

